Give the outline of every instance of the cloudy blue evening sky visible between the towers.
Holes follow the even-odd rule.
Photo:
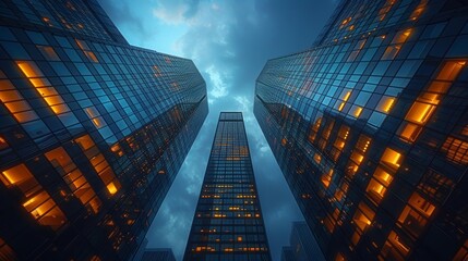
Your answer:
[[[193,60],[209,114],[146,238],[182,260],[220,111],[243,112],[273,260],[303,216],[253,115],[266,61],[310,48],[337,0],[99,0],[127,40]]]

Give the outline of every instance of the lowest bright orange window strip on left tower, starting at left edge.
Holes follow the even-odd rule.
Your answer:
[[[56,204],[49,194],[44,190],[37,179],[24,164],[20,164],[1,172],[0,179],[7,187],[15,186],[22,190],[26,198],[24,209],[31,213],[41,225],[53,229],[61,227],[67,217]]]

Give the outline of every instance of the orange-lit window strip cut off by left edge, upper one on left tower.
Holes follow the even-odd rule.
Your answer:
[[[0,79],[0,101],[20,123],[38,119],[29,103],[8,79]]]

